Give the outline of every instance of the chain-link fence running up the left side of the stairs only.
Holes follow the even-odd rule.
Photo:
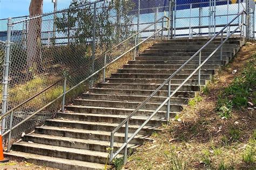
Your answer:
[[[74,1],[69,9],[12,22],[8,110],[35,96],[15,109],[12,118],[6,117],[6,129],[11,119],[12,128],[28,119],[12,131],[12,138],[54,117],[64,89],[68,91],[65,103],[69,104],[93,84],[102,82],[105,64],[109,65],[105,70],[109,76],[133,58],[135,43],[147,38],[145,44],[149,46],[164,35],[166,29],[163,33],[159,29],[167,27],[167,20],[158,19],[155,26],[154,20],[147,23],[151,17],[145,16],[139,30],[146,29],[131,37],[137,32],[134,21],[140,20],[138,13],[132,13],[134,6],[134,2],[125,0],[87,5]],[[61,77],[65,75],[64,85]]]

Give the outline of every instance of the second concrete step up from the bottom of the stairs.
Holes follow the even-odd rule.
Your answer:
[[[22,141],[12,145],[12,149],[18,152],[26,152],[31,154],[45,155],[48,157],[72,159],[78,161],[96,162],[104,164],[108,157],[106,152],[90,151],[77,148],[68,148],[62,146],[44,145],[37,143],[28,143]],[[120,158],[118,155],[117,158]]]

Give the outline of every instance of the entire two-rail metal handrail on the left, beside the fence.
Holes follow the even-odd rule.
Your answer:
[[[162,20],[162,22],[164,21],[164,18],[168,19],[168,17],[161,17],[159,20]],[[159,20],[157,20],[156,22],[159,22]],[[154,23],[153,23],[154,24]],[[108,52],[110,52],[112,49],[118,47],[119,45],[122,45],[124,42],[130,40],[133,37],[137,37],[139,33],[143,32],[145,29],[148,29],[150,26],[152,26],[153,24],[145,27],[142,31],[139,31],[135,34],[133,34],[133,36],[125,39],[124,41],[120,42],[118,45],[112,47],[111,49],[107,50],[106,52],[104,52],[103,54],[100,54],[97,58],[95,58],[93,61],[95,61],[96,59],[98,59],[100,56],[104,55],[105,56],[105,61],[106,61],[106,54]],[[45,89],[43,89],[42,91],[38,92],[37,94],[33,95],[32,97],[30,97],[28,100],[22,102],[21,104],[17,105],[15,108],[12,108],[11,110],[7,111],[5,114],[3,114],[2,116],[0,116],[0,119],[2,119],[3,117],[6,117],[7,115],[10,114],[10,126],[9,129],[6,130],[3,134],[2,137],[5,136],[6,134],[9,133],[9,138],[8,138],[8,150],[10,151],[10,138],[11,138],[11,131],[14,130],[15,128],[17,128],[19,125],[23,124],[24,122],[28,121],[28,119],[30,119],[31,117],[35,116],[36,114],[38,114],[40,111],[42,111],[43,109],[45,109],[46,107],[48,107],[49,105],[51,105],[52,103],[56,102],[57,100],[59,100],[60,98],[63,97],[63,101],[62,101],[62,111],[64,111],[64,104],[65,104],[65,94],[69,93],[69,91],[75,89],[76,87],[80,86],[80,84],[84,83],[85,81],[89,80],[91,77],[95,76],[96,74],[98,74],[100,71],[104,70],[104,75],[103,75],[103,81],[105,80],[105,68],[109,65],[111,65],[111,63],[117,61],[118,59],[122,58],[122,56],[124,56],[125,54],[131,52],[132,50],[134,50],[134,55],[136,54],[136,48],[143,44],[145,41],[147,41],[148,39],[152,38],[153,36],[155,36],[156,34],[158,34],[161,31],[161,38],[163,38],[163,31],[164,29],[167,29],[163,26],[162,24],[162,28],[159,29],[158,31],[154,32],[151,36],[147,37],[146,39],[144,39],[142,42],[139,42],[138,44],[135,44],[132,48],[130,48],[128,51],[124,52],[122,55],[119,55],[116,59],[114,59],[113,61],[111,61],[110,63],[104,62],[104,67],[100,68],[99,70],[97,70],[95,73],[91,74],[90,76],[86,77],[86,79],[84,79],[83,81],[79,82],[76,86],[70,88],[68,91],[66,91],[66,78],[76,72],[78,72],[78,70],[84,68],[85,66],[82,66],[78,69],[76,69],[75,71],[73,71],[72,73],[61,77],[58,81],[56,81],[55,83],[51,84],[50,86],[46,87]],[[136,39],[136,38],[135,38]],[[89,64],[93,61],[90,61]],[[88,64],[88,63],[87,63]],[[22,105],[24,105],[25,103],[31,101],[33,98],[35,98],[36,96],[44,93],[44,91],[48,90],[49,88],[53,87],[55,84],[59,83],[60,81],[64,80],[64,87],[63,87],[63,94],[61,94],[60,96],[58,96],[57,98],[55,98],[55,100],[49,102],[48,104],[44,105],[44,107],[42,107],[41,109],[38,109],[37,111],[33,112],[30,116],[26,117],[25,119],[23,119],[23,121],[19,122],[18,124],[16,124],[14,127],[12,127],[12,117],[14,115],[14,111],[16,109],[18,109],[19,107],[21,107]]]

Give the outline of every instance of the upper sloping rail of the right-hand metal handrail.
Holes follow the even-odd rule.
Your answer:
[[[208,42],[206,42],[206,44],[201,47],[194,55],[191,56],[190,59],[188,59],[182,66],[180,66],[180,68],[178,68],[168,79],[166,79],[156,90],[153,91],[153,93],[146,98],[146,100],[144,100],[144,102],[140,103],[139,106],[129,115],[127,116],[124,121],[122,123],[120,123],[111,133],[116,133],[118,131],[118,129],[120,129],[127,121],[129,121],[129,119],[136,114],[137,111],[139,111],[162,87],[165,86],[165,84],[167,82],[169,82],[169,80],[172,79],[172,77],[174,75],[176,75],[181,69],[183,69],[183,67],[185,67],[187,65],[188,62],[190,62],[196,55],[198,55],[208,44],[210,44],[217,36],[219,36],[219,34],[221,32],[223,32],[230,24],[232,24],[234,22],[235,19],[237,19],[240,15],[242,15],[243,13],[246,13],[244,10],[242,10],[237,16],[235,16],[228,24],[226,24],[225,27],[223,27],[223,29],[221,29],[217,34],[215,34],[215,36],[213,36]]]

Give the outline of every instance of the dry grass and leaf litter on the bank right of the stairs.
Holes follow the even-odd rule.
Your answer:
[[[246,44],[201,94],[202,100],[187,106],[179,115],[183,122],[171,121],[163,132],[152,135],[131,155],[129,169],[251,168],[255,166],[255,110],[233,110],[221,119],[216,111],[217,96],[240,74],[256,52],[256,44]],[[237,69],[237,74],[231,74]],[[254,89],[255,90],[255,89]],[[250,141],[249,141],[250,140]],[[251,158],[244,159],[251,154]],[[246,161],[248,160],[248,161]]]

